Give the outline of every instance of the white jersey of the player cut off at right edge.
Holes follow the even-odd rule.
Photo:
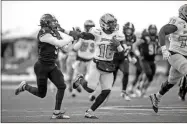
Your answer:
[[[178,28],[169,36],[169,50],[187,56],[187,23],[179,17],[173,17],[170,19],[169,24]]]

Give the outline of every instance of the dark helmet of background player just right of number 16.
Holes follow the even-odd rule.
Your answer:
[[[125,35],[128,35],[128,36],[133,35],[134,31],[135,31],[135,28],[134,28],[134,25],[131,22],[127,22],[127,23],[124,24],[123,33]]]

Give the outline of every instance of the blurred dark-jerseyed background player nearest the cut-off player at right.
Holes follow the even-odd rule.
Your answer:
[[[147,88],[153,81],[153,77],[156,71],[155,56],[159,48],[157,27],[150,25],[148,30],[142,32],[140,41],[136,44],[136,52],[140,58],[140,63],[144,74],[142,74],[142,84],[140,84],[141,96],[143,96]]]

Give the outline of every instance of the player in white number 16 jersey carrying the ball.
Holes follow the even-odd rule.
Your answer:
[[[124,39],[123,35],[119,35],[116,31],[118,28],[117,19],[112,14],[104,14],[100,18],[100,29],[91,28],[89,33],[95,37],[96,48],[93,61],[90,63],[90,69],[85,79],[79,75],[73,83],[73,87],[77,88],[81,84],[82,87],[89,93],[95,91],[98,82],[100,82],[101,93],[95,99],[92,106],[86,110],[86,118],[97,117],[94,111],[104,102],[106,97],[111,92],[113,83],[113,71],[115,65],[113,63],[114,52],[123,52],[123,47],[120,45],[120,40]]]

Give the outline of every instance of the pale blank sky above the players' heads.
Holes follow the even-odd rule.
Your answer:
[[[178,16],[178,9],[186,1],[2,1],[2,32],[12,30],[15,35],[29,35],[39,30],[39,20],[45,13],[53,14],[62,28],[83,30],[85,20],[99,26],[105,13],[113,14],[122,26],[130,21],[137,32],[156,24],[158,29]]]

